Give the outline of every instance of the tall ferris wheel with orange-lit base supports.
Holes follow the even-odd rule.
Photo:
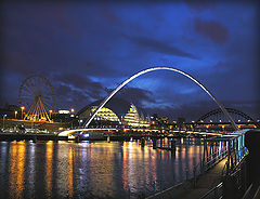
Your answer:
[[[51,82],[42,76],[30,76],[20,87],[18,104],[27,112],[23,119],[51,121],[49,112],[55,107],[55,93]]]

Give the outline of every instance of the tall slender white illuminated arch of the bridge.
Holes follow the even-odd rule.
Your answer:
[[[236,123],[234,122],[234,120],[232,119],[232,117],[230,116],[230,114],[226,111],[226,109],[224,108],[224,106],[216,98],[216,96],[206,88],[204,87],[198,80],[196,80],[194,77],[192,77],[191,75],[176,69],[176,68],[171,68],[171,67],[165,67],[165,66],[159,66],[159,67],[153,67],[153,68],[148,68],[148,69],[144,69],[133,76],[131,76],[130,78],[128,78],[127,80],[125,80],[120,85],[118,85],[101,104],[100,106],[95,109],[95,111],[93,112],[93,115],[86,121],[84,123],[84,128],[88,128],[88,125],[90,124],[90,122],[93,120],[93,118],[95,117],[95,115],[98,114],[98,111],[104,107],[104,105],[121,89],[123,88],[127,83],[129,83],[130,81],[132,81],[133,79],[138,78],[139,76],[150,72],[150,71],[154,71],[154,70],[172,70],[172,71],[177,71],[178,74],[181,74],[187,78],[190,78],[191,80],[193,80],[195,83],[197,83],[206,93],[208,93],[208,95],[218,104],[218,106],[221,108],[221,110],[223,111],[223,114],[225,115],[225,117],[230,120],[232,127],[234,128],[234,130],[238,130]]]

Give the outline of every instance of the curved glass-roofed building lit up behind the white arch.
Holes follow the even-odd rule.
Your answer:
[[[80,121],[87,121],[102,101],[93,102],[78,111]],[[142,108],[121,100],[113,98],[101,108],[90,125],[125,125],[148,128],[151,119]]]

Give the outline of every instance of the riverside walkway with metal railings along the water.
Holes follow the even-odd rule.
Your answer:
[[[195,167],[193,170],[194,177],[147,199],[209,199],[224,195],[232,199],[242,198],[248,185],[243,178],[246,174],[245,169],[237,169],[248,154],[245,147],[247,132],[248,130],[239,130],[221,137],[204,140],[204,157],[200,169]],[[237,182],[244,181],[244,183],[236,186],[234,177]],[[234,193],[236,190],[237,194]]]

